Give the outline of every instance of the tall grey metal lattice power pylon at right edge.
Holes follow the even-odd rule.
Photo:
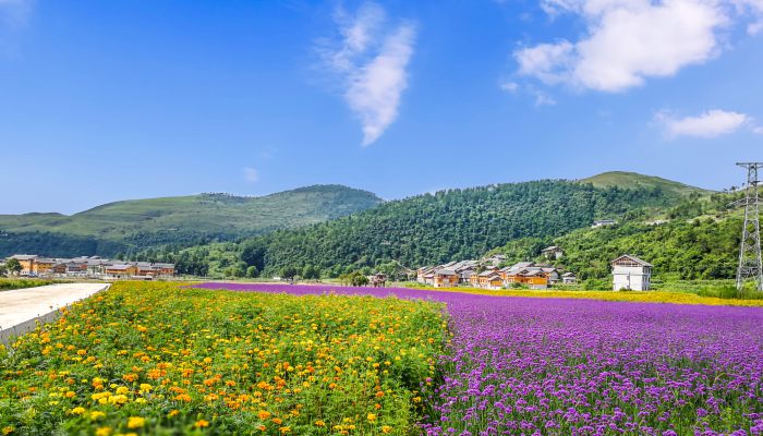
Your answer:
[[[741,290],[746,282],[754,281],[755,289],[763,291],[760,199],[758,196],[758,169],[763,168],[763,162],[737,162],[737,166],[747,168],[744,198],[734,203],[736,206],[744,206],[744,226],[742,227],[742,240],[739,244],[739,266],[737,267],[737,289]]]

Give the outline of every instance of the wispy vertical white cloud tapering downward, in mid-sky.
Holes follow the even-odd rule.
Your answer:
[[[376,3],[364,3],[354,15],[338,10],[336,22],[340,40],[335,47],[320,47],[319,53],[341,80],[344,100],[361,121],[366,146],[398,116],[416,31],[409,22],[388,26],[385,11]]]

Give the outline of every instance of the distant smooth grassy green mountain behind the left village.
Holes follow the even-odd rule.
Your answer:
[[[335,219],[382,203],[340,185],[315,185],[262,197],[198,194],[132,199],[61,214],[0,215],[0,256],[113,255],[165,244],[233,240]]]

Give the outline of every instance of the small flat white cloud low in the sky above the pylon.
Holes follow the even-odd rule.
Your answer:
[[[719,109],[685,118],[676,118],[666,111],[661,111],[655,119],[664,126],[666,136],[670,138],[678,136],[711,138],[734,133],[744,126],[755,133],[760,129],[752,124],[753,120],[748,114]]]

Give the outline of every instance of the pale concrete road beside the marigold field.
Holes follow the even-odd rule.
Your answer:
[[[0,292],[0,339],[34,328],[34,320],[108,288],[106,283],[60,283]]]

